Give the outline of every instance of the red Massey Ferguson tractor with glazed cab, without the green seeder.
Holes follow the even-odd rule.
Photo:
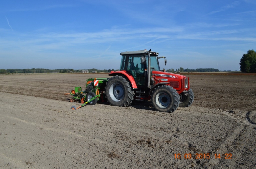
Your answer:
[[[135,100],[151,100],[161,112],[174,112],[179,106],[188,107],[194,101],[189,78],[160,70],[158,53],[151,49],[120,53],[120,71],[111,71],[105,86],[108,102],[128,106]]]

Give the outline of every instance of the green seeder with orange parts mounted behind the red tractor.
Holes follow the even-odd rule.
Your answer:
[[[71,93],[65,93],[64,95],[74,96],[70,99],[70,102],[80,102],[81,106],[76,108],[72,106],[72,110],[79,109],[86,104],[95,105],[98,100],[104,102],[105,100],[105,86],[109,78],[90,78],[87,79],[85,90],[82,91],[82,87],[75,87]]]

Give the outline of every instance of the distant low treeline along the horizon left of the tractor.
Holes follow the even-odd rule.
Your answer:
[[[114,69],[83,69],[83,70],[88,70],[89,73],[92,72],[111,72],[111,71],[118,71]],[[74,70],[74,69],[0,69],[0,74],[13,74],[13,73],[82,73],[83,70]]]

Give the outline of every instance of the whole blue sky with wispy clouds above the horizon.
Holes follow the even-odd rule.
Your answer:
[[[119,69],[121,52],[152,49],[161,69],[239,70],[255,21],[255,0],[5,0],[0,69]]]

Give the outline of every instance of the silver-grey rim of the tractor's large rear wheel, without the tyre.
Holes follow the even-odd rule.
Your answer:
[[[119,83],[114,83],[109,88],[109,95],[115,102],[119,102],[124,97],[124,88]]]

